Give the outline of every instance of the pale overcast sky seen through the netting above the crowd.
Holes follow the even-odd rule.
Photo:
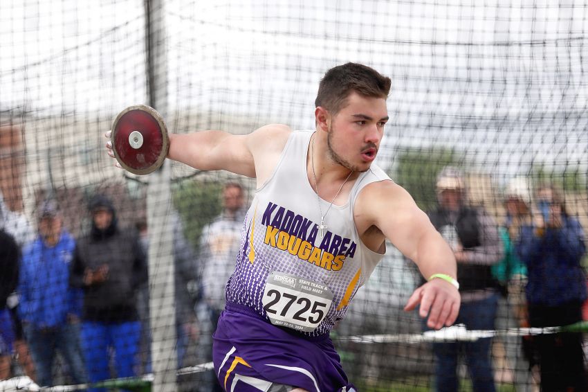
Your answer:
[[[586,1],[163,1],[167,108],[313,127],[318,81],[389,75],[400,146],[485,166],[588,162]],[[113,116],[146,103],[143,1],[2,0],[0,109]],[[383,162],[384,164],[384,162]]]

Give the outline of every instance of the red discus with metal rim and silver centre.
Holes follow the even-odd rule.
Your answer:
[[[116,116],[111,130],[112,151],[122,168],[135,175],[147,175],[163,165],[169,136],[155,109],[129,106]]]

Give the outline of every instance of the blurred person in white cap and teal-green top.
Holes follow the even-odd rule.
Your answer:
[[[504,225],[499,228],[500,238],[504,244],[504,257],[492,266],[493,276],[498,281],[502,294],[498,302],[496,320],[499,330],[529,326],[524,301],[526,266],[518,257],[514,246],[519,239],[522,225],[531,222],[531,191],[526,179],[517,177],[508,183],[504,193],[504,207],[506,217]],[[522,346],[523,342],[525,349]],[[531,391],[531,365],[524,355],[530,347],[529,337],[499,337],[494,343],[497,362],[502,362],[502,377],[499,376],[497,379],[513,382],[519,392]]]

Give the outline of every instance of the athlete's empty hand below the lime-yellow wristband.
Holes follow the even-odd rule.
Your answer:
[[[410,312],[421,304],[419,315],[429,319],[427,326],[438,330],[443,326],[451,326],[459,314],[461,296],[459,291],[443,279],[432,279],[414,290],[404,308]]]

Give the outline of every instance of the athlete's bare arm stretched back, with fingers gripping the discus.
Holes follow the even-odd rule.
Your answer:
[[[246,135],[223,131],[200,131],[190,134],[169,134],[167,158],[199,170],[227,170],[247,177],[259,177],[259,171],[284,148],[290,129],[285,125],[265,125]],[[107,133],[110,139],[110,133]],[[114,157],[112,144],[108,154]]]

